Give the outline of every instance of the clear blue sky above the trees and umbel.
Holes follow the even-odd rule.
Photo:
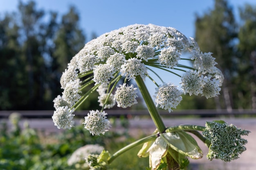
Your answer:
[[[27,2],[28,0],[23,0]],[[88,40],[92,32],[101,35],[130,24],[155,24],[171,26],[194,37],[195,14],[202,15],[213,8],[214,0],[35,0],[38,9],[67,13],[74,5],[80,13],[81,28]],[[255,0],[229,0],[238,17],[238,7]],[[18,0],[0,0],[0,14],[17,10]],[[1,15],[0,15],[1,16]],[[166,76],[166,83],[179,85],[177,77]],[[151,86],[150,92],[155,87]]]

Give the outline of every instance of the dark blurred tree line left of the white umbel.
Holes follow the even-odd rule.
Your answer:
[[[62,72],[85,44],[78,11],[70,7],[58,21],[20,1],[18,12],[0,16],[0,109],[52,109]]]

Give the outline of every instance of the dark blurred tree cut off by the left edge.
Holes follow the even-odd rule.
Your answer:
[[[21,61],[18,42],[18,25],[13,15],[7,14],[0,20],[0,108],[14,107],[13,100],[22,86]],[[11,78],[11,81],[10,81]]]

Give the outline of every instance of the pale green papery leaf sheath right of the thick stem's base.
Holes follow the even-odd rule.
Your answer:
[[[202,150],[195,139],[184,131],[161,133],[160,137],[178,153],[189,156],[192,159],[200,159],[203,156]]]

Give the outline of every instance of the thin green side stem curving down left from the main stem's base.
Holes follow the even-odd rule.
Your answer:
[[[114,153],[110,159],[108,159],[108,163],[110,164],[112,161],[114,161],[119,155],[125,153],[126,151],[136,147],[136,146],[139,146],[141,144],[144,144],[145,142],[149,142],[149,141],[152,141],[152,140],[155,140],[157,138],[157,134],[155,135],[150,135],[150,136],[147,136],[147,137],[144,137],[142,139],[139,139],[135,142],[132,142],[131,144],[125,146],[124,148],[121,148],[120,150],[118,150],[116,153]]]

